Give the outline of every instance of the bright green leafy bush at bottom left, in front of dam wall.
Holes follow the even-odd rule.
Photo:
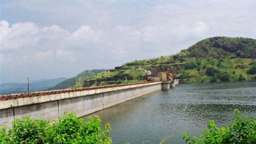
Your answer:
[[[0,144],[110,144],[108,136],[110,125],[104,131],[98,116],[90,117],[87,122],[77,118],[74,113],[65,113],[59,121],[35,120],[28,116],[12,122],[9,129],[0,125]]]

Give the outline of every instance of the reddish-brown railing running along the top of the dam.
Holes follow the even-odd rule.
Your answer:
[[[154,82],[157,82],[157,81],[154,81]],[[86,91],[86,90],[97,90],[97,89],[103,89],[103,88],[114,88],[114,87],[130,86],[135,84],[146,84],[146,83],[154,83],[154,82],[147,81],[142,83],[115,84],[115,85],[108,85],[108,86],[94,86],[94,87],[86,87],[86,88],[73,88],[73,89],[65,89],[65,90],[51,90],[51,91],[31,92],[31,93],[15,93],[10,95],[0,95],[0,101],[22,99],[26,97],[54,95],[59,93],[70,93],[70,92],[80,92],[80,91]]]

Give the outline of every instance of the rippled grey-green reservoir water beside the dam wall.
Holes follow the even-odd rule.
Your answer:
[[[209,120],[227,126],[234,109],[256,117],[256,81],[179,84],[92,115],[111,124],[113,144],[158,144],[164,136],[170,136],[166,143],[185,143],[181,132],[200,136]]]

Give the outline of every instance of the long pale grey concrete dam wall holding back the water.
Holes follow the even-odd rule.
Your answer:
[[[13,120],[25,116],[58,120],[65,111],[80,117],[157,90],[161,90],[161,82],[3,100],[0,101],[0,124],[10,127]]]

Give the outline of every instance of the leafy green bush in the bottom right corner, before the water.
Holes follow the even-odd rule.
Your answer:
[[[228,127],[218,128],[211,120],[200,137],[191,137],[187,132],[182,132],[183,140],[189,144],[256,143],[256,119],[243,117],[238,109],[235,116],[234,122]]]

